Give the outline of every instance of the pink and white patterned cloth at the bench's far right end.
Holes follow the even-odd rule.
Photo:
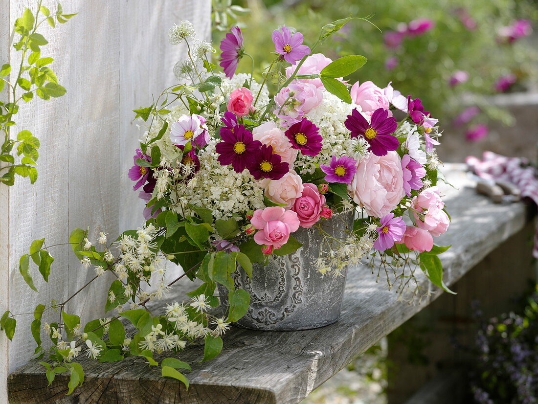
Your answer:
[[[465,162],[481,178],[513,183],[521,190],[522,197],[528,197],[538,205],[538,171],[527,159],[484,152],[482,160],[469,156]],[[534,235],[533,257],[538,259],[538,228]]]

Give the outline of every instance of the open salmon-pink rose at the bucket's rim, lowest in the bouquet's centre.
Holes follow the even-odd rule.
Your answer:
[[[293,210],[285,210],[280,206],[254,211],[250,222],[258,230],[254,235],[254,241],[259,245],[272,246],[275,249],[286,244],[289,234],[299,229],[297,214]]]

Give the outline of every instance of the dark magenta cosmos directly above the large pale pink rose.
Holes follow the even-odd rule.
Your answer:
[[[398,139],[391,134],[398,127],[396,118],[388,117],[386,109],[378,108],[373,111],[370,123],[368,123],[355,108],[344,124],[351,131],[352,138],[362,136],[366,139],[370,144],[370,150],[375,155],[386,155],[400,145]]]

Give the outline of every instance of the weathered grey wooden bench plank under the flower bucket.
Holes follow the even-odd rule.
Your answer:
[[[443,187],[452,224],[436,242],[452,245],[441,256],[444,280],[452,285],[520,231],[534,209],[524,203],[493,204],[477,195],[463,165],[448,165],[446,175],[457,188]],[[371,268],[351,268],[342,318],[335,324],[294,332],[233,328],[221,355],[205,363],[198,363],[203,344],[187,346],[179,357],[192,364],[188,391],[177,380],[160,377],[144,359],[131,357],[116,363],[81,360],[86,379],[69,396],[67,377],[58,375],[47,387],[43,367],[31,362],[10,375],[9,398],[17,403],[298,403],[441,294],[426,278],[420,281],[433,293],[421,304],[407,304],[385,282],[377,283]],[[179,289],[171,300],[181,298]]]

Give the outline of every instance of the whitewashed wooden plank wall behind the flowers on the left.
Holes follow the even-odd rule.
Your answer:
[[[200,38],[210,36],[210,0],[63,3],[65,12],[79,15],[55,29],[42,25],[50,42],[43,54],[55,59],[52,67],[67,94],[24,105],[16,118],[41,140],[39,179],[33,186],[21,178],[13,187],[0,185],[0,312],[9,307],[26,313],[38,303],[65,299],[93,277],[69,246],[60,246],[52,251],[48,285],[36,274],[40,294],[33,292],[18,273],[18,259],[32,240],[65,243],[71,229],[86,226],[94,240],[100,231],[116,237],[142,221],[143,202],[126,175],[139,136],[131,110],[146,107],[151,94],[174,83],[172,68],[185,49],[168,43],[173,23],[188,19]],[[51,0],[44,5],[56,7]],[[0,0],[0,64],[17,60],[9,34],[25,6],[35,8],[35,2]],[[68,311],[82,313],[82,320],[102,315],[106,293],[96,283]],[[6,374],[31,357],[31,318],[18,317],[9,349],[0,337],[0,402],[7,402]]]

